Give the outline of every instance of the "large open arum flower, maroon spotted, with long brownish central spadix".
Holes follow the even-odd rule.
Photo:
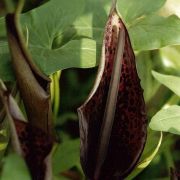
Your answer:
[[[135,56],[116,1],[106,23],[95,85],[78,114],[87,178],[126,177],[143,151],[147,118]]]

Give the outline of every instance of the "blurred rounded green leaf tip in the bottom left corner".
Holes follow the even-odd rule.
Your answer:
[[[4,160],[1,180],[31,180],[24,160],[17,154],[9,154]]]

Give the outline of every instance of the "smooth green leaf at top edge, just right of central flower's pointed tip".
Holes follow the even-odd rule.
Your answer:
[[[127,24],[135,19],[151,14],[159,10],[166,0],[121,0],[118,1],[118,9]]]

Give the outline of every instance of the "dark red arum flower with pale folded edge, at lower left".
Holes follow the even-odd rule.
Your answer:
[[[8,118],[13,150],[26,160],[32,179],[51,179],[52,138],[27,122],[16,101],[1,80],[0,99],[4,104]]]

